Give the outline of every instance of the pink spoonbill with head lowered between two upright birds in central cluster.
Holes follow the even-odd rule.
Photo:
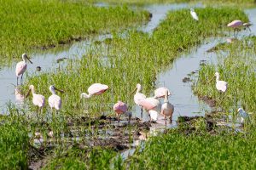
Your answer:
[[[140,100],[138,104],[148,111],[150,121],[157,121],[158,114],[160,113],[160,101],[158,99],[146,98]]]

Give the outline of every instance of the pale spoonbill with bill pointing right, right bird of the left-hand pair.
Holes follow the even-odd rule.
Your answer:
[[[59,111],[61,109],[61,97],[56,94],[55,90],[63,93],[63,90],[55,88],[54,85],[49,86],[49,91],[51,92],[51,95],[48,98],[48,103],[51,111],[53,111],[53,108],[55,108],[56,111]]]

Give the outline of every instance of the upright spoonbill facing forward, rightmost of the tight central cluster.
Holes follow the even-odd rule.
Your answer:
[[[172,123],[173,111],[174,111],[174,106],[171,103],[169,103],[168,91],[166,90],[164,104],[162,105],[162,108],[161,108],[161,114],[165,116],[165,120],[166,120],[166,116],[170,116],[170,122]]]

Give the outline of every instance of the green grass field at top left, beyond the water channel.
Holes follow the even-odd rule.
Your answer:
[[[0,3],[0,60],[148,20],[146,12],[127,7],[96,8],[89,3],[61,0]]]

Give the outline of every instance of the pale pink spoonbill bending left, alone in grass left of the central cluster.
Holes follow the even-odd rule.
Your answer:
[[[108,86],[101,83],[94,83],[88,88],[88,93],[81,94],[81,98],[89,99],[93,95],[103,94],[106,90],[108,90]]]

